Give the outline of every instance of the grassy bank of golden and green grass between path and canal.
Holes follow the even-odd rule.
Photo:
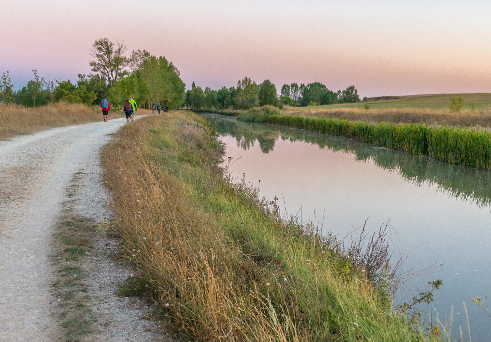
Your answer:
[[[391,310],[387,250],[332,238],[218,167],[223,146],[189,112],[142,118],[103,150],[126,256],[174,329],[196,341],[425,341]],[[142,284],[145,284],[144,286]]]

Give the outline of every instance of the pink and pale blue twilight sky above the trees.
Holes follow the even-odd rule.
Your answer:
[[[98,38],[147,50],[187,88],[245,76],[363,96],[491,92],[491,1],[0,0],[0,74],[72,82]]]

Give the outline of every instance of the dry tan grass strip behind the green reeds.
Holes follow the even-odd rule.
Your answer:
[[[281,115],[298,115],[304,117],[326,117],[352,121],[388,122],[388,123],[424,123],[427,125],[491,127],[491,111],[463,109],[451,112],[449,109],[416,109],[416,108],[338,108],[325,109],[318,107],[285,106]]]

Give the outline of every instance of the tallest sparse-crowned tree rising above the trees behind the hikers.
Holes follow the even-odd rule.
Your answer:
[[[128,75],[128,72],[124,70],[129,63],[128,58],[123,56],[126,50],[127,47],[122,41],[117,42],[117,48],[114,49],[114,43],[110,42],[108,38],[97,39],[92,45],[90,56],[94,57],[95,60],[91,60],[89,65],[92,67],[92,71],[102,75],[109,87]]]

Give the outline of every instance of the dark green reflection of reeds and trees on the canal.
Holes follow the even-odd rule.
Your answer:
[[[295,128],[246,123],[236,121],[235,118],[213,114],[204,114],[204,116],[216,125],[218,133],[234,137],[237,146],[244,150],[258,142],[261,151],[269,153],[274,149],[278,139],[309,142],[320,148],[353,153],[359,162],[373,161],[377,167],[389,172],[397,172],[414,185],[436,185],[439,192],[450,197],[470,204],[474,203],[481,208],[491,206],[491,171],[448,164],[363,142]]]

